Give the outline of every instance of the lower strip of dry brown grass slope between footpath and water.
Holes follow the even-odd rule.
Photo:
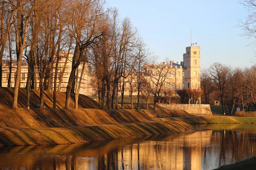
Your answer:
[[[0,145],[71,144],[195,130],[184,122],[62,128],[1,128]]]

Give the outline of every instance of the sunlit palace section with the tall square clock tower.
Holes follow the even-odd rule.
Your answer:
[[[190,46],[186,47],[186,53],[183,54],[183,61],[181,62],[161,62],[154,63],[146,70],[153,76],[158,74],[166,74],[164,88],[167,89],[200,89],[200,47]],[[163,69],[160,71],[160,69]]]

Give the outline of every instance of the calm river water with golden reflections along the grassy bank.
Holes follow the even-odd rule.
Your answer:
[[[198,128],[210,130],[89,144],[0,147],[0,170],[212,170],[256,155],[256,125]]]

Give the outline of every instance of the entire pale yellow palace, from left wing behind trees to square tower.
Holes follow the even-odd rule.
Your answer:
[[[63,53],[65,53],[65,51],[63,51]],[[69,74],[71,72],[71,67],[72,67],[71,61],[72,61],[73,54],[69,54],[68,58],[64,56],[67,56],[67,54],[64,54],[63,57],[61,57],[60,66],[58,70],[58,74],[59,74],[63,70],[64,63],[67,59],[67,65],[64,72],[63,81],[61,84],[61,91],[66,91],[67,82],[68,82]],[[192,45],[192,46],[186,47],[186,53],[183,54],[182,62],[170,61],[167,63],[165,62],[157,63],[157,64],[154,63],[153,65],[155,68],[164,67],[164,68],[169,68],[171,70],[170,73],[167,75],[164,88],[172,88],[174,90],[200,89],[201,66],[200,66],[200,47],[199,46]],[[14,87],[16,67],[17,67],[17,62],[14,62],[13,69],[12,69],[12,79],[11,79],[12,87]],[[81,69],[81,67],[82,66],[80,65],[79,69]],[[8,77],[9,77],[8,60],[3,60],[2,70],[3,70],[2,86],[7,87]],[[82,75],[80,94],[84,94],[87,96],[96,96],[97,94],[96,89],[93,87],[93,77],[91,76],[91,74],[89,74],[90,69],[88,65],[86,65],[85,70],[86,71]],[[54,72],[55,71],[53,68],[52,76],[54,75]],[[26,86],[27,73],[28,73],[28,65],[26,60],[23,60],[23,64],[21,68],[21,83],[20,83],[21,88],[24,88]],[[151,73],[154,73],[154,70],[151,70]],[[37,77],[38,77],[37,87],[39,87],[39,76]],[[128,85],[126,87],[128,87]],[[53,79],[51,81],[51,88],[53,89]],[[127,93],[126,95],[129,95],[128,91],[126,91],[126,93]]]

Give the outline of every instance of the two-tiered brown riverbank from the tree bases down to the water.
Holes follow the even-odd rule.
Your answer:
[[[185,122],[161,121],[159,114],[191,116],[168,110],[0,109],[0,145],[72,144],[195,131]]]

